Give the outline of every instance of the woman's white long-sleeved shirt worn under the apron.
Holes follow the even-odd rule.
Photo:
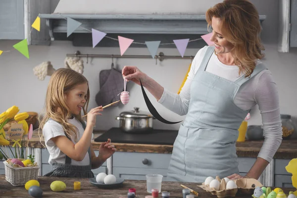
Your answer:
[[[192,62],[188,78],[180,94],[174,94],[164,89],[162,97],[158,101],[159,103],[179,115],[186,115],[188,113],[191,99],[190,87],[205,55],[206,49],[207,46],[197,52]],[[257,64],[259,63],[261,62],[258,61]],[[244,75],[238,75],[238,66],[223,64],[215,53],[212,54],[208,61],[206,72],[233,82]],[[243,84],[235,96],[234,103],[244,110],[249,110],[258,104],[262,115],[263,134],[265,137],[258,157],[270,162],[282,141],[282,123],[280,118],[278,90],[273,81],[271,72],[267,69],[263,70]]]

